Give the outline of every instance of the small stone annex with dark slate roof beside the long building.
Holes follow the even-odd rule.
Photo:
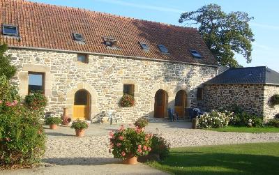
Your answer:
[[[272,119],[279,114],[279,106],[270,99],[279,94],[279,73],[264,66],[230,68],[204,83],[204,109],[228,109],[234,105],[249,114]]]

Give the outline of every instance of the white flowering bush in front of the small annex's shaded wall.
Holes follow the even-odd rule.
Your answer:
[[[198,128],[223,128],[229,124],[229,121],[233,119],[233,112],[218,112],[213,110],[212,112],[206,112],[199,116]]]

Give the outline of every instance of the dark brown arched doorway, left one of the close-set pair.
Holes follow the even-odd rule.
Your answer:
[[[160,89],[155,94],[154,117],[165,118],[167,116],[167,92]]]

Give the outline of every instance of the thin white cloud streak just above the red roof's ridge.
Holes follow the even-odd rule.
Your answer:
[[[166,8],[166,7],[160,7],[160,6],[149,6],[149,5],[142,5],[139,3],[130,3],[126,1],[119,1],[119,0],[95,0],[105,3],[114,3],[121,6],[129,6],[134,8],[143,8],[148,10],[156,10],[156,11],[163,11],[163,12],[169,12],[169,13],[183,13],[183,10],[179,10],[176,8]]]

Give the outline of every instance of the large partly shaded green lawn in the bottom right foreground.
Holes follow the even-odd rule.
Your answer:
[[[147,162],[171,174],[279,174],[279,143],[230,144],[171,149],[161,162]]]

